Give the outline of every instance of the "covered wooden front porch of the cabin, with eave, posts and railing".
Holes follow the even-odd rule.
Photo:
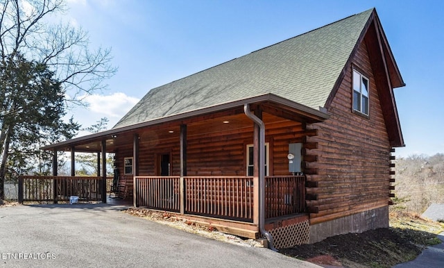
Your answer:
[[[316,172],[307,162],[316,161],[310,150],[317,144],[306,138],[317,132],[306,124],[326,118],[323,112],[266,94],[44,149],[54,156],[57,151],[97,153],[102,185],[103,159],[114,153],[114,172],[130,188],[128,198],[135,207],[177,213],[244,237],[285,233],[287,241],[287,233],[296,230],[298,241],[291,243],[301,244],[309,228],[305,174]],[[279,239],[274,244],[287,245]]]

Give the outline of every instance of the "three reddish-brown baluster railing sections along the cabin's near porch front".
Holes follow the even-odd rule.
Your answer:
[[[180,211],[180,177],[136,176],[136,206]],[[253,221],[253,177],[187,176],[185,213]],[[305,212],[305,176],[267,176],[266,218]]]

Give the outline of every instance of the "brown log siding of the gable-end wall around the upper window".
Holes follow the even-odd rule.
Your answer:
[[[370,80],[370,114],[368,118],[352,112],[352,67]],[[331,115],[317,129],[317,149],[307,155],[318,157],[306,162],[307,200],[310,223],[318,224],[357,212],[388,206],[391,146],[379,104],[375,79],[365,42],[361,42],[352,66],[328,107]]]

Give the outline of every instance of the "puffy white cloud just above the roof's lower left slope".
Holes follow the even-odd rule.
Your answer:
[[[117,92],[111,95],[92,94],[85,97],[88,110],[105,117],[121,118],[128,112],[139,99],[129,97],[125,93]]]

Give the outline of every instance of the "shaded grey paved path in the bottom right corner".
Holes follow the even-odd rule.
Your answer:
[[[395,268],[441,268],[444,267],[444,233],[437,236],[442,243],[435,246],[429,246],[427,249],[411,262],[404,262],[395,265]]]

